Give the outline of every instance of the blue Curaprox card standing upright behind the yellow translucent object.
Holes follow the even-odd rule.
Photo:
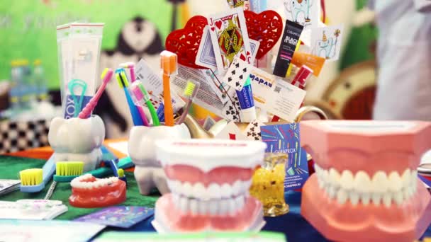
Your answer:
[[[302,188],[308,179],[307,152],[301,149],[299,124],[261,126],[262,141],[267,144],[267,153],[287,153],[285,190]]]

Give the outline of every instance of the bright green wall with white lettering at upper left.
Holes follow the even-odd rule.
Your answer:
[[[0,1],[0,79],[9,79],[12,59],[41,59],[50,88],[58,88],[56,26],[72,21],[105,23],[102,49],[116,46],[121,27],[135,16],[149,19],[164,40],[171,28],[166,0]]]

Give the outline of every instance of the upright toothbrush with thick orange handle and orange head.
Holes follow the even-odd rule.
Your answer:
[[[177,54],[164,50],[160,53],[160,65],[163,69],[164,125],[174,126],[170,80],[178,73]]]

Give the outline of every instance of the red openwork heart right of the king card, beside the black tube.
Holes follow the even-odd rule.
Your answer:
[[[260,42],[256,58],[261,59],[274,47],[283,33],[283,21],[276,11],[267,10],[262,13],[244,11],[248,36]]]

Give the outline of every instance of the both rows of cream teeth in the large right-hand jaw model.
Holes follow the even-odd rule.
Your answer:
[[[401,205],[415,194],[418,184],[418,172],[410,169],[406,169],[403,175],[396,171],[389,175],[384,171],[378,171],[372,178],[364,171],[358,171],[353,175],[351,171],[345,170],[340,175],[335,168],[328,171],[317,164],[315,171],[319,187],[325,190],[330,199],[336,199],[339,204],[349,200],[353,205],[359,201],[364,205],[371,201],[376,205],[383,202],[386,207],[391,206],[392,202]]]

